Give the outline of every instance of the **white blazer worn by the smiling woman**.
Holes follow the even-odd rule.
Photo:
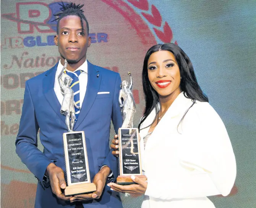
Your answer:
[[[180,93],[151,136],[144,150],[140,131],[147,190],[142,208],[214,208],[207,196],[227,196],[236,178],[232,145],[221,118],[208,102],[193,104]],[[150,125],[155,110],[142,123]],[[178,127],[178,128],[177,128]]]

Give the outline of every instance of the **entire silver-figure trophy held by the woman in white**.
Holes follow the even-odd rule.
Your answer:
[[[120,176],[117,177],[117,184],[120,185],[135,184],[131,179],[131,175],[136,175],[146,180],[141,168],[139,130],[138,128],[133,128],[133,116],[136,107],[131,91],[133,79],[130,72],[128,72],[128,75],[130,76],[130,86],[128,86],[126,80],[122,82],[118,99],[123,115],[123,125],[118,130]]]

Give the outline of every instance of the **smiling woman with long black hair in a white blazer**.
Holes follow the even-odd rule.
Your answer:
[[[142,76],[146,109],[138,128],[147,181],[133,177],[137,184],[108,185],[118,192],[144,194],[142,208],[214,208],[207,196],[230,193],[235,156],[190,59],[175,44],[152,46]],[[112,148],[117,144],[114,139]]]

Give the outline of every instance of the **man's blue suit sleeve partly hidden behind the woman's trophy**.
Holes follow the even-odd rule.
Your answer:
[[[118,133],[118,128],[122,126],[123,120],[121,115],[121,108],[119,106],[119,90],[120,90],[120,84],[121,84],[121,77],[118,74],[117,78],[115,80],[115,90],[113,94],[113,105],[112,105],[112,122],[115,128],[115,132]],[[117,179],[118,176],[118,159],[115,155],[112,154],[113,149],[110,149],[109,154],[105,158],[104,162],[102,163],[102,166],[107,165],[111,169],[113,173],[113,181]],[[101,166],[101,167],[102,167]],[[100,168],[101,168],[100,167]]]

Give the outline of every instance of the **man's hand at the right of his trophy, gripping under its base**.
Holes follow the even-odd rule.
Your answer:
[[[97,173],[94,176],[92,181],[96,185],[96,191],[90,194],[75,195],[72,198],[70,198],[70,202],[86,201],[94,198],[100,198],[109,174],[110,174],[110,168],[108,166],[104,166],[103,168],[101,168],[99,173]]]

